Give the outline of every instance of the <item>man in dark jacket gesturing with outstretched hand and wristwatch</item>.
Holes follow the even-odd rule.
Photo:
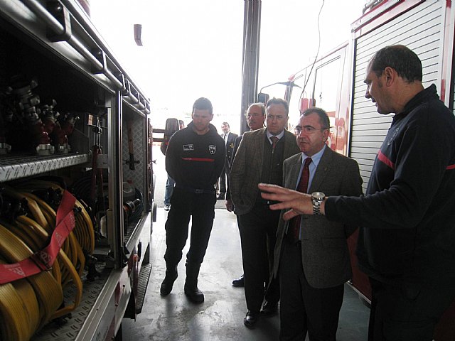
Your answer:
[[[365,97],[395,113],[366,195],[305,195],[259,185],[262,196],[298,214],[360,226],[358,265],[370,276],[368,340],[432,340],[455,298],[455,118],[436,86],[424,89],[422,63],[403,45],[370,60]]]

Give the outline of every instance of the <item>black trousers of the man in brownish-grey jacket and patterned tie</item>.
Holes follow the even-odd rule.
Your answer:
[[[279,301],[277,278],[265,293],[273,269],[279,211],[269,210],[268,205],[258,203],[251,212],[240,215],[239,220],[247,308],[259,312],[264,298],[271,303]]]

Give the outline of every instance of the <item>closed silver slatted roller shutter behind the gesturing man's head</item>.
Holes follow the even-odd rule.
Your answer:
[[[402,44],[414,50],[422,60],[423,84],[440,85],[440,64],[443,30],[442,5],[445,1],[425,1],[410,11],[355,40],[353,122],[350,157],[360,167],[365,192],[379,148],[392,122],[392,114],[381,115],[365,98],[365,70],[373,54],[387,45]]]

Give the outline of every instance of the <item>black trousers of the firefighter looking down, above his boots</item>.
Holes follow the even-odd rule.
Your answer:
[[[216,195],[214,193],[190,193],[174,188],[171,210],[166,221],[166,264],[177,265],[182,259],[182,250],[188,238],[188,223],[192,217],[190,249],[186,261],[201,264],[212,232],[215,217]]]

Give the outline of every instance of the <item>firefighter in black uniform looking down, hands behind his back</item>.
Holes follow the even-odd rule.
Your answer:
[[[193,303],[203,303],[198,274],[215,217],[215,183],[225,166],[225,141],[210,124],[213,107],[208,99],[201,97],[194,102],[192,118],[185,129],[172,136],[166,151],[166,171],[176,185],[166,221],[166,276],[160,292],[166,296],[172,291],[192,217],[185,294]]]

